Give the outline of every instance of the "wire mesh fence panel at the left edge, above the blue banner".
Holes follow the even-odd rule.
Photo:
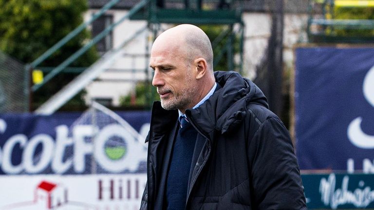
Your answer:
[[[27,91],[25,65],[0,52],[0,113],[27,111]]]

